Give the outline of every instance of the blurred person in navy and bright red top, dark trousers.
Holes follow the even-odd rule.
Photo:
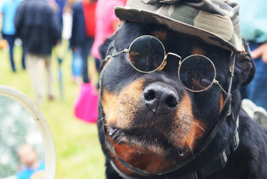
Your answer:
[[[96,2],[93,0],[83,0],[73,4],[72,16],[72,36],[70,38],[70,46],[73,51],[73,60],[77,50],[83,59],[82,76],[83,82],[89,83],[88,76],[88,56],[94,43],[95,36],[95,8]],[[73,61],[73,66],[74,66]],[[74,72],[73,68],[73,72]],[[73,74],[77,75],[77,74]]]

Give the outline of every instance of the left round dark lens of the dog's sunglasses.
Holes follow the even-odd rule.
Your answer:
[[[129,51],[132,65],[142,72],[151,72],[159,68],[164,55],[164,47],[161,42],[150,36],[138,38],[132,43]]]

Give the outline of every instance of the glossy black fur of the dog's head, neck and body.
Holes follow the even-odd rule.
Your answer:
[[[172,52],[180,55],[182,59],[191,55],[191,49],[194,46],[201,47],[216,68],[216,80],[227,92],[230,71],[229,59],[230,51],[217,48],[211,45],[203,44],[198,41],[178,36],[177,34],[168,31],[167,29],[157,25],[147,25],[139,22],[127,21],[121,29],[110,39],[100,46],[101,58],[104,59],[106,55],[115,54],[124,48],[129,48],[129,45],[137,37],[143,35],[152,35],[152,31],[161,29],[166,31],[166,38],[162,43],[166,49],[166,53]],[[112,44],[112,47],[109,45]],[[234,77],[231,88],[231,114],[227,116],[223,126],[219,130],[216,137],[210,145],[199,154],[190,165],[183,166],[174,172],[164,175],[154,175],[150,177],[138,176],[139,178],[175,178],[176,176],[192,171],[192,169],[199,169],[209,164],[215,157],[225,149],[229,140],[233,137],[235,130],[235,119],[239,115],[239,136],[240,143],[237,150],[230,155],[224,170],[215,176],[209,178],[227,178],[227,179],[245,179],[245,178],[267,178],[267,134],[258,123],[254,122],[241,109],[241,96],[239,94],[239,87],[244,86],[253,79],[256,72],[254,62],[250,56],[248,43],[243,40],[246,47],[246,54],[237,55],[235,60]],[[108,48],[109,47],[109,48]],[[109,51],[107,51],[109,49]],[[113,51],[115,50],[115,51]],[[204,120],[208,126],[208,133],[214,128],[217,123],[217,118],[220,110],[219,98],[222,93],[219,85],[213,84],[209,89],[202,92],[192,92],[186,90],[178,78],[178,61],[174,56],[168,56],[167,64],[161,71],[152,73],[141,73],[136,71],[127,60],[127,53],[121,53],[115,57],[112,63],[107,63],[103,70],[101,80],[101,88],[109,91],[112,94],[118,93],[125,86],[130,84],[133,80],[145,78],[146,83],[149,84],[154,81],[164,81],[174,88],[179,97],[182,95],[181,91],[186,91],[191,98],[192,109],[195,118]],[[144,85],[146,86],[146,84]],[[99,111],[100,112],[100,111]],[[99,116],[100,119],[100,116]],[[137,121],[138,122],[138,121]],[[99,139],[102,149],[106,156],[106,177],[121,178],[112,168],[109,163],[110,151],[107,150],[105,138],[103,133],[102,122],[98,122]],[[190,166],[190,167],[189,167]]]

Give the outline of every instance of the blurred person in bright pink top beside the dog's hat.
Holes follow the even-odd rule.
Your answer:
[[[105,38],[110,37],[115,32],[121,23],[114,13],[114,7],[125,6],[125,4],[126,0],[98,0],[96,3],[96,34],[91,53],[95,57],[98,72],[100,60],[103,60],[100,58],[98,47],[105,41]]]

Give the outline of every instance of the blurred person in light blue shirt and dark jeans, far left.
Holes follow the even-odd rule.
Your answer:
[[[21,3],[21,1],[22,0],[5,0],[1,8],[1,13],[3,14],[2,35],[3,38],[9,44],[10,62],[13,72],[16,72],[15,63],[13,59],[13,48],[14,48],[14,41],[16,38],[14,18],[17,7]],[[22,55],[22,68],[25,69],[24,54]]]

